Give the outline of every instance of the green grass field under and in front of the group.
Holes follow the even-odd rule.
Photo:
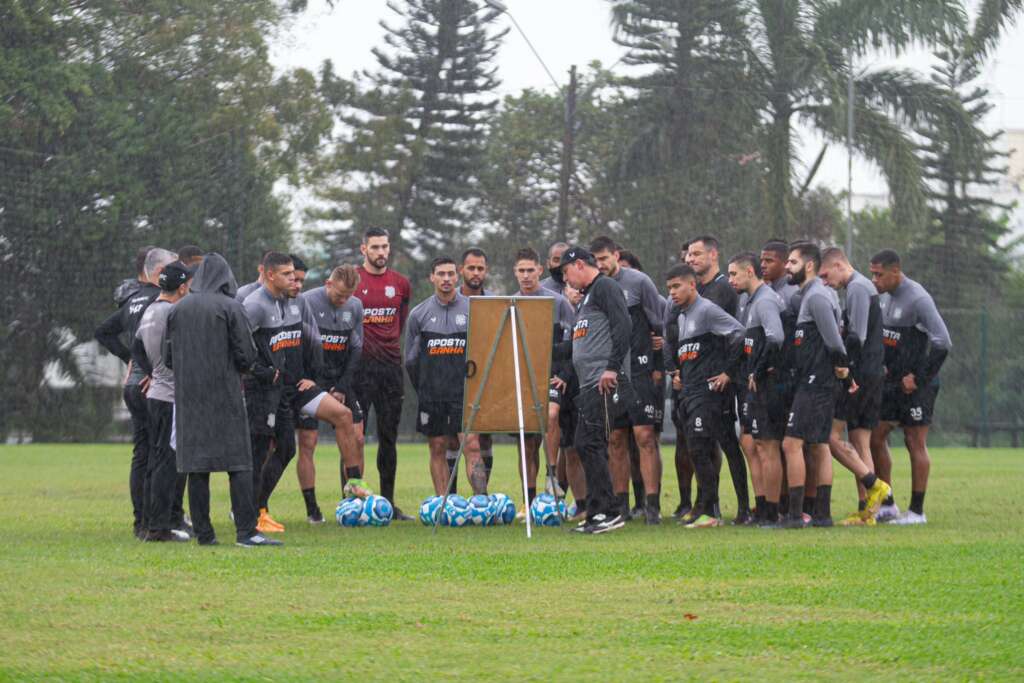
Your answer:
[[[518,525],[310,527],[290,468],[273,499],[287,547],[244,550],[135,541],[127,446],[0,446],[0,679],[1020,680],[1024,452],[932,455],[925,527],[529,542]],[[511,456],[493,489],[517,490]],[[837,478],[838,518],[854,493]],[[425,447],[403,449],[399,504],[428,481]],[[213,488],[228,542],[226,477]]]

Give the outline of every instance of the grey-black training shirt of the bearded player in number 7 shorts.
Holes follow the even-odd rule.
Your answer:
[[[796,379],[801,386],[834,389],[839,383],[835,369],[849,366],[839,334],[842,312],[835,294],[819,278],[803,288],[794,339]]]

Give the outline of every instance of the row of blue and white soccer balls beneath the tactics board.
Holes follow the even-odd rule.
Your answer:
[[[558,526],[565,515],[565,503],[555,502],[554,496],[542,494],[529,506],[534,523]],[[431,496],[420,506],[420,521],[426,526],[496,526],[515,521],[515,503],[505,494],[473,496],[466,500],[453,495],[445,502],[441,496]]]

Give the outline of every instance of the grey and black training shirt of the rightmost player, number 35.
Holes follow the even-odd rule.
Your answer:
[[[913,374],[918,386],[936,378],[952,348],[949,331],[924,287],[904,276],[879,298],[884,328],[886,376],[899,382]]]

